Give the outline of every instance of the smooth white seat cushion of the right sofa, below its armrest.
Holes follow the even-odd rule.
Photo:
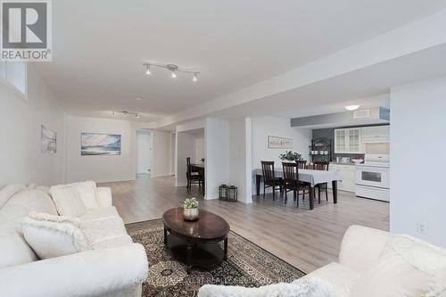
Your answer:
[[[350,289],[359,279],[359,273],[334,262],[301,277],[302,280],[310,278],[323,279],[332,285],[335,296],[348,297],[350,296]]]

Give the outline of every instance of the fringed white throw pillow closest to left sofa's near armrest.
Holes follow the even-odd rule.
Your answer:
[[[82,231],[67,222],[25,218],[21,228],[26,242],[40,259],[90,250]]]

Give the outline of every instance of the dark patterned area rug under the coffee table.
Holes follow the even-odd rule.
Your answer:
[[[291,282],[304,276],[301,270],[280,260],[241,235],[230,231],[227,260],[210,269],[193,268],[175,260],[163,243],[161,219],[126,225],[136,243],[145,246],[149,259],[149,277],[143,284],[143,296],[194,297],[202,285],[243,285],[247,287]]]

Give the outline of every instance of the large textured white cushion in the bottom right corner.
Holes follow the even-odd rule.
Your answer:
[[[446,250],[395,235],[376,262],[361,275],[351,297],[438,296],[446,290]]]

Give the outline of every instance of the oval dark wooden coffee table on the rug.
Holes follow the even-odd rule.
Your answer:
[[[227,234],[230,227],[218,215],[200,210],[200,219],[186,222],[183,208],[167,210],[162,215],[164,244],[178,260],[186,263],[187,274],[193,266],[209,268],[227,259]],[[219,242],[224,242],[223,249]]]

